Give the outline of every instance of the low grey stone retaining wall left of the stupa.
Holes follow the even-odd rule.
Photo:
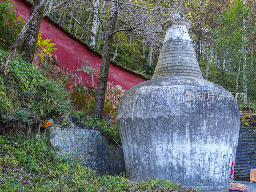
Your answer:
[[[61,147],[62,154],[84,156],[83,165],[100,172],[120,174],[125,172],[122,148],[109,143],[98,131],[87,129],[52,129],[50,141]]]

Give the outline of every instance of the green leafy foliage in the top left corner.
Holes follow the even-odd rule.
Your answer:
[[[23,27],[24,21],[16,17],[14,7],[10,1],[0,3],[0,41],[4,49],[9,49]]]

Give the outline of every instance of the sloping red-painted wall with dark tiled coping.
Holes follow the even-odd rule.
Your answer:
[[[30,6],[23,1],[14,0],[12,3],[15,6],[16,15],[21,15],[23,20],[28,19],[30,12]],[[63,29],[58,28],[58,25],[54,24],[47,18],[44,18],[41,22],[40,32],[43,39],[50,38],[55,43],[56,51],[52,52],[52,56],[57,61],[59,70],[72,71],[80,68],[83,64],[82,60],[87,62],[88,65],[100,70],[101,56],[93,50],[86,47],[79,40],[70,36]],[[55,71],[57,74],[58,72]],[[84,82],[86,86],[97,86],[97,77],[89,77],[82,71],[76,72],[77,76],[74,77],[74,83]],[[114,62],[110,63],[108,84],[113,86],[119,85],[123,90],[127,91],[132,86],[148,80],[147,78],[126,70]]]

